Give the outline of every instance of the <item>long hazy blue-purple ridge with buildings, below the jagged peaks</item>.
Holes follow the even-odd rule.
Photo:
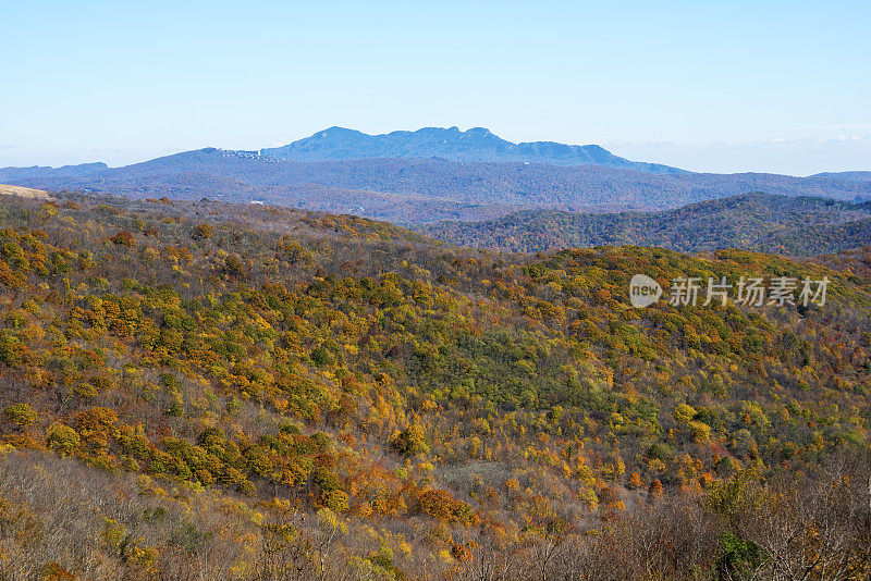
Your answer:
[[[185,200],[207,197],[242,203],[255,200],[402,224],[488,220],[530,209],[661,211],[750,191],[868,200],[871,180],[864,177],[864,173],[845,177],[663,174],[596,164],[459,162],[441,158],[294,161],[214,148],[123,168],[93,163],[0,169],[0,183],[52,191]]]

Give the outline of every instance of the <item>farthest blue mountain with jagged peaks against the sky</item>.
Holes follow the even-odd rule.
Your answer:
[[[514,144],[483,127],[473,127],[465,132],[457,127],[424,127],[415,132],[397,131],[380,135],[369,135],[344,127],[330,127],[286,146],[261,149],[260,154],[292,161],[443,158],[462,162],[592,164],[650,173],[688,173],[659,163],[629,161],[598,145],[578,146],[554,141]]]

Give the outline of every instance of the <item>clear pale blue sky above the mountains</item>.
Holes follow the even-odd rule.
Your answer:
[[[871,2],[0,3],[0,166],[484,126],[699,171],[871,170]]]

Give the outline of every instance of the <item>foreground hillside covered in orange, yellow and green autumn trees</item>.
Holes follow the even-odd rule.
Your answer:
[[[634,309],[638,273],[830,285]],[[855,269],[64,194],[3,199],[0,300],[0,578],[871,572]]]

